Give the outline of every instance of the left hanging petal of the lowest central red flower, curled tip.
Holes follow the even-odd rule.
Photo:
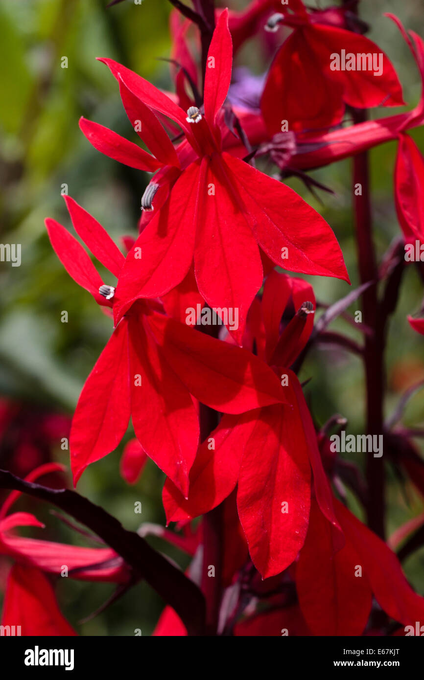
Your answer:
[[[256,417],[257,411],[223,415],[199,447],[190,471],[189,498],[184,498],[172,481],[165,481],[162,500],[168,524],[204,515],[231,494]]]

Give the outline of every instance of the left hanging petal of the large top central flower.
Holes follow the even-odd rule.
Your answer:
[[[199,163],[174,184],[169,199],[127,255],[115,294],[115,323],[141,297],[158,297],[178,285],[193,260],[201,197]]]

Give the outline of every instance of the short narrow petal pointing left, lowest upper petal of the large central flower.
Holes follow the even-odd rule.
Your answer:
[[[154,172],[163,165],[140,146],[117,135],[104,125],[80,118],[80,129],[97,151],[114,158],[118,163],[146,172]]]

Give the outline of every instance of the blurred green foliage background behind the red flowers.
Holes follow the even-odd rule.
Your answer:
[[[91,296],[65,273],[50,247],[44,218],[50,216],[69,226],[61,197],[63,184],[67,184],[69,194],[119,242],[123,235],[137,233],[140,199],[148,182],[145,173],[125,168],[96,152],[79,131],[78,119],[86,116],[137,141],[114,78],[95,58],[112,57],[155,85],[172,87],[169,67],[158,59],[169,57],[170,3],[143,0],[136,5],[133,0],[125,0],[110,8],[106,3],[107,0],[0,0],[1,241],[22,244],[20,267],[0,263],[0,398],[22,403],[29,411],[44,409],[71,415],[84,379],[112,330],[110,320]],[[241,8],[247,2],[231,0],[229,5]],[[422,1],[361,3],[361,16],[372,25],[368,35],[389,54],[404,85],[404,97],[414,105],[420,96],[417,69],[397,29],[382,17],[383,12],[397,14],[408,29],[424,35]],[[267,64],[257,46],[251,48],[250,44],[245,46],[238,63],[260,73]],[[66,69],[61,68],[63,56],[68,61]],[[393,109],[387,113],[392,112]],[[373,113],[385,114],[382,109]],[[424,150],[423,131],[414,131],[412,136]],[[394,143],[371,154],[375,239],[380,256],[399,234],[393,205],[394,158]],[[350,161],[312,175],[335,192],[333,196],[321,194],[324,205],[306,194],[298,180],[288,183],[333,227],[356,286]],[[310,280],[317,298],[325,303],[348,292],[347,284],[335,279]],[[113,283],[110,277],[107,282]],[[408,267],[397,312],[389,326],[386,413],[391,412],[410,384],[424,377],[423,338],[413,333],[406,322],[407,313],[419,311],[421,297],[417,273]],[[356,309],[361,309],[360,303],[350,307],[350,312]],[[67,323],[61,322],[64,310],[68,312]],[[336,322],[333,328],[360,339],[345,322]],[[302,379],[308,377],[312,377],[307,391],[317,422],[323,424],[339,412],[348,418],[348,432],[363,432],[363,371],[359,360],[334,350],[314,351],[301,371]],[[404,422],[417,425],[423,419],[423,399],[418,394],[410,401]],[[53,449],[54,460],[67,464],[68,452],[61,451],[59,440]],[[343,455],[348,458],[348,454]],[[119,456],[120,452],[115,452],[90,466],[78,490],[116,515],[127,528],[140,526],[140,515],[133,511],[137,500],[142,502],[143,522],[163,524],[163,475],[148,462],[140,482],[129,487],[118,473]],[[350,458],[362,466],[360,454]],[[402,490],[390,469],[388,473],[390,534],[422,511],[423,503],[410,485]],[[354,500],[352,507],[362,516]],[[46,515],[41,505],[36,513],[48,522],[43,537],[79,541],[75,532],[56,517]],[[40,530],[37,531],[39,536]],[[79,542],[87,544],[83,539]],[[164,548],[159,541],[152,543]],[[185,566],[180,554],[168,553]],[[416,553],[404,566],[414,587],[424,594],[424,551]],[[143,635],[150,634],[161,602],[145,585],[138,585],[91,622],[78,624],[112,590],[107,584],[66,579],[59,583],[59,599],[69,621],[81,634],[133,635],[135,628],[141,628]]]

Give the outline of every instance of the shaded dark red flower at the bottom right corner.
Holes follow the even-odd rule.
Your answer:
[[[333,544],[333,528],[316,502],[296,566],[301,612],[314,635],[361,635],[374,594],[395,621],[414,625],[424,615],[424,598],[413,592],[391,549],[333,499],[345,545]],[[312,577],[313,575],[313,577]]]

